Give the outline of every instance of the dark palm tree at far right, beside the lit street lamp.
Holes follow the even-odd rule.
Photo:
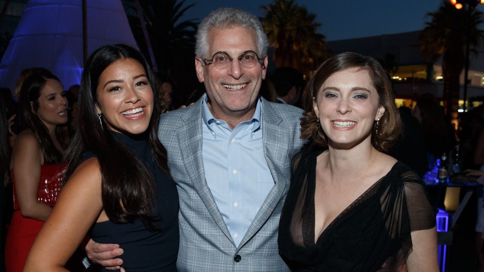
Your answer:
[[[479,25],[484,22],[482,15],[477,10],[469,15],[468,11],[457,10],[449,2],[443,2],[439,10],[426,15],[432,20],[426,23],[427,27],[419,36],[424,58],[435,61],[443,55],[444,99],[447,114],[452,119],[458,115],[459,77],[465,64],[467,28],[470,27],[469,49],[477,53],[474,48],[484,39],[484,31],[479,29]]]

